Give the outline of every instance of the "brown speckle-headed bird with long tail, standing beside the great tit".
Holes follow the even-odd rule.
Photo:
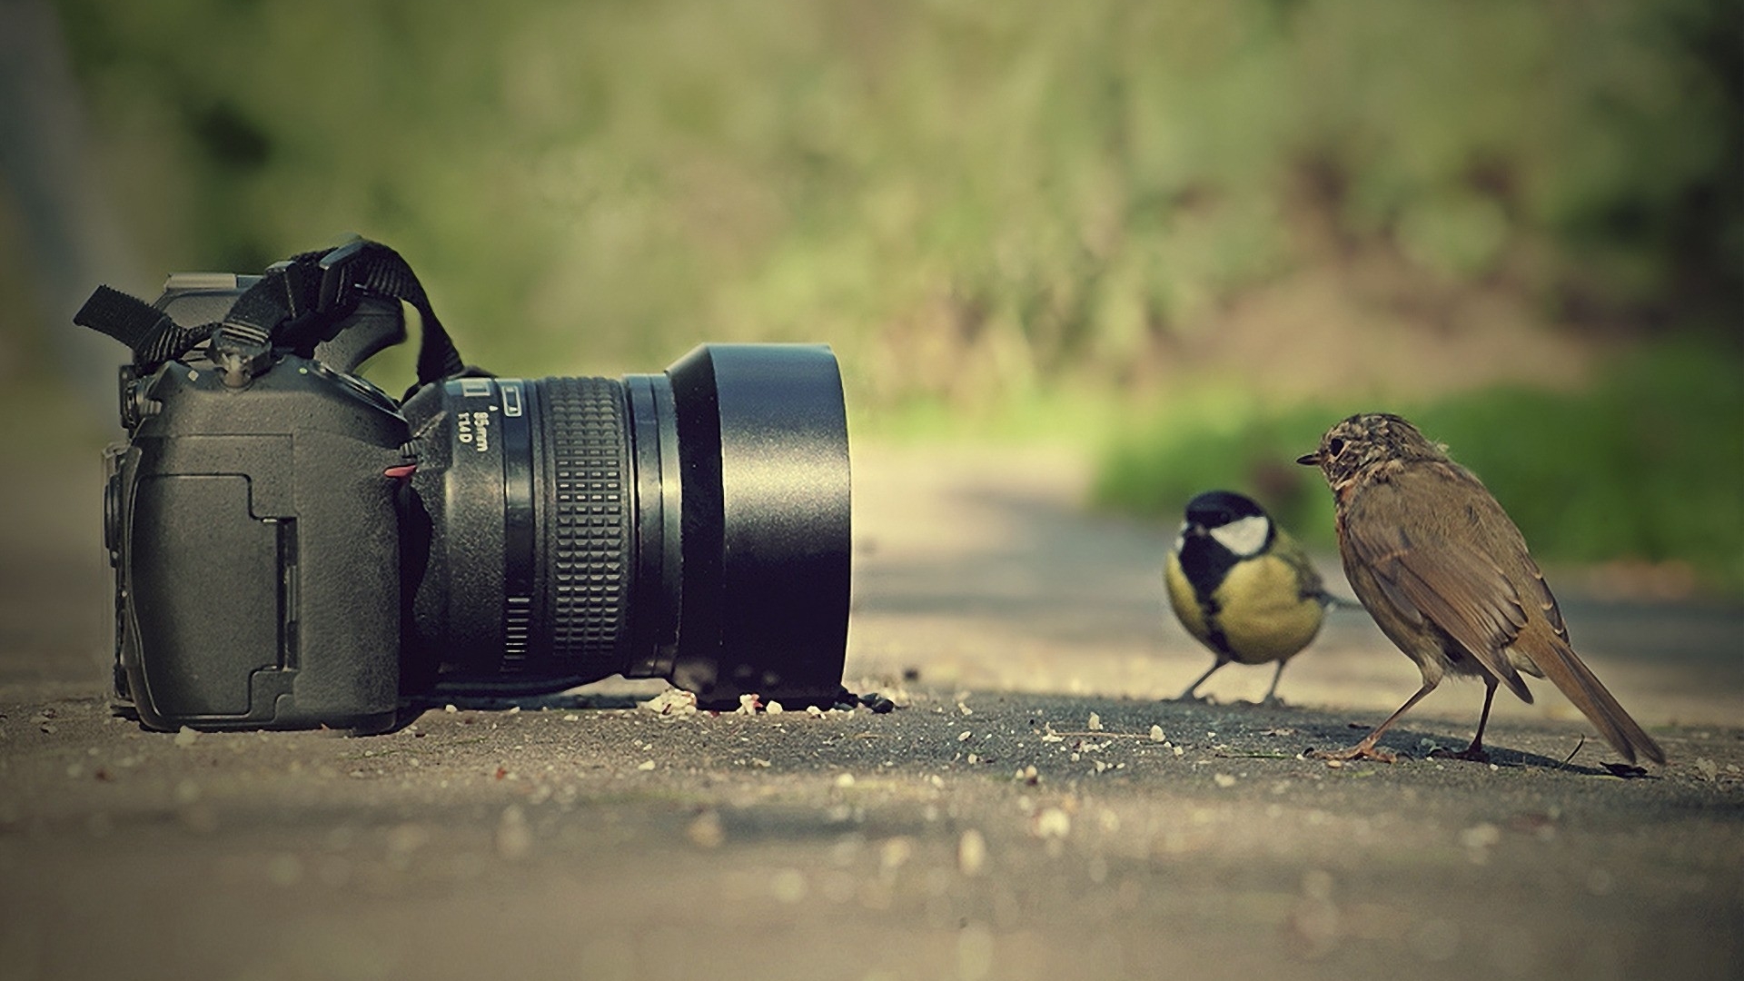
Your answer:
[[[1357,745],[1324,759],[1378,759],[1376,745],[1399,716],[1441,684],[1475,676],[1484,709],[1458,759],[1486,761],[1484,724],[1496,688],[1523,702],[1521,672],[1549,677],[1631,765],[1666,763],[1653,737],[1624,710],[1575,655],[1568,625],[1526,538],[1479,478],[1406,419],[1367,412],[1336,422],[1298,457],[1332,489],[1345,576],[1374,623],[1423,672],[1423,686]]]

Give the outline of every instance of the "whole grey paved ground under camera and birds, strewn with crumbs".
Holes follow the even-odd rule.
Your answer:
[[[1338,613],[1257,707],[1207,663],[1172,529],[1055,452],[855,447],[848,684],[900,707],[668,714],[657,683],[368,738],[150,733],[103,691],[94,463],[10,468],[0,976],[1741,978],[1744,613],[1563,590],[1666,745],[1481,688],[1329,766],[1414,688]],[[1329,569],[1329,581],[1343,585]],[[1552,574],[1552,581],[1556,576]],[[1503,693],[1502,698],[1507,695]]]

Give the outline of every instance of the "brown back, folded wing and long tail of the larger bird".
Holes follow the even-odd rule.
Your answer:
[[[1386,497],[1367,501],[1376,492]],[[1458,466],[1420,466],[1369,487],[1359,503],[1395,515],[1390,522],[1346,524],[1352,546],[1367,559],[1388,599],[1411,604],[1531,702],[1509,648],[1524,655],[1625,759],[1632,763],[1641,752],[1666,761],[1666,751],[1575,655],[1524,536],[1475,477]],[[1400,524],[1420,529],[1418,538],[1407,538]],[[1542,614],[1540,627],[1531,627],[1526,604]]]

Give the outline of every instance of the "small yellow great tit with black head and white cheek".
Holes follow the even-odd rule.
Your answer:
[[[1275,703],[1284,665],[1315,634],[1325,592],[1301,545],[1250,497],[1207,490],[1188,501],[1181,534],[1163,569],[1175,618],[1216,662],[1175,700],[1189,702],[1200,684],[1230,662],[1277,662],[1261,703]]]

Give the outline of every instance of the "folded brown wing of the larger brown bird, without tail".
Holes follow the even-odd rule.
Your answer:
[[[1441,627],[1509,691],[1531,702],[1531,689],[1503,653],[1526,628],[1514,585],[1481,550],[1448,534],[1448,487],[1413,482],[1414,475],[1395,473],[1357,494],[1345,517],[1348,546],[1400,616]]]

